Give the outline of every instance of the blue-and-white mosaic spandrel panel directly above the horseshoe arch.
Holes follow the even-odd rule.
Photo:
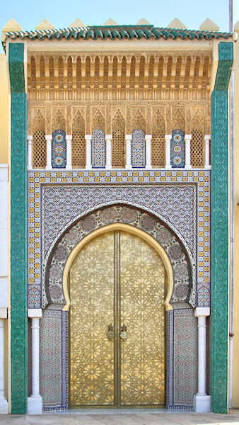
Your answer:
[[[137,172],[137,171],[136,171]],[[88,189],[91,188],[89,191]],[[69,197],[71,194],[72,200]],[[109,205],[131,205],[156,215],[177,234],[192,263],[196,259],[196,186],[183,184],[123,186],[91,185],[71,188],[42,186],[44,196],[42,253],[45,262],[62,234],[93,210]],[[158,202],[160,198],[160,202]],[[69,202],[71,201],[71,202]],[[57,220],[54,219],[57,217]],[[54,225],[52,224],[54,223]]]

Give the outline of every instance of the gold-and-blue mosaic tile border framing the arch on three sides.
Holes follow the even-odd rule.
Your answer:
[[[116,170],[116,171],[28,171],[28,289],[35,291],[34,297],[29,300],[32,308],[41,305],[40,275],[41,259],[41,232],[43,185],[119,185],[127,187],[132,183],[145,186],[155,186],[158,183],[194,183],[197,186],[197,305],[210,305],[210,171],[195,169],[186,170]],[[127,184],[128,183],[128,184]],[[102,204],[103,205],[103,204]],[[141,205],[137,205],[142,208]],[[98,207],[99,208],[99,207]],[[85,213],[88,211],[85,211]],[[154,212],[154,211],[151,211]],[[155,213],[155,212],[154,212]],[[181,237],[182,238],[182,237]]]

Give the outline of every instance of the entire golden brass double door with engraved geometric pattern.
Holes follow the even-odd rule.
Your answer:
[[[91,239],[70,271],[69,404],[165,404],[165,268],[123,231]]]

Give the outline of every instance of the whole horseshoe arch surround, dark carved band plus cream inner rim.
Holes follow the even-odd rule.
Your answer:
[[[140,236],[158,251],[169,278],[166,309],[170,310],[170,302],[190,302],[194,305],[195,285],[192,285],[192,265],[180,239],[158,217],[129,206],[114,205],[81,217],[64,232],[54,246],[45,268],[42,307],[51,303],[66,303],[67,309],[69,306],[67,276],[71,262],[81,246],[88,242],[93,234],[107,231],[109,225],[115,229],[127,227],[132,233],[140,233]]]

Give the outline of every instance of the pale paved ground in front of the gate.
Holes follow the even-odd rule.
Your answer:
[[[228,414],[197,414],[161,410],[75,411],[39,415],[1,415],[0,424],[16,425],[239,425],[239,410]]]

